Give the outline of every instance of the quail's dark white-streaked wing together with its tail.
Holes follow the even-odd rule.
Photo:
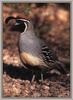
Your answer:
[[[50,69],[57,68],[66,73],[65,65],[58,60],[56,53],[44,41],[41,42],[41,50],[43,59]]]

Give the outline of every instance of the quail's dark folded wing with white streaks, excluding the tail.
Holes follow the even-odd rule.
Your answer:
[[[46,63],[54,63],[58,60],[56,53],[48,47],[48,45],[41,41],[42,56]]]

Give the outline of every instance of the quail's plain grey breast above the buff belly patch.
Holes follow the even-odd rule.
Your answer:
[[[19,48],[20,52],[28,52],[31,53],[33,56],[40,56],[41,54],[39,39],[33,33],[21,33]]]

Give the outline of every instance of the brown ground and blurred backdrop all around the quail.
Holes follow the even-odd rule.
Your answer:
[[[3,4],[3,97],[71,96],[69,6],[69,4]],[[17,46],[19,35],[7,31],[4,21],[8,16],[32,19],[35,33],[45,39],[48,46],[56,52],[59,60],[65,64],[67,74],[45,74],[43,83],[40,82],[39,75],[31,82],[33,74],[23,68],[19,57]]]

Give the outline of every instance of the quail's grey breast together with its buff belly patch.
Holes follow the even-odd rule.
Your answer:
[[[21,37],[19,41],[20,58],[25,64],[37,66],[42,63],[40,46],[33,38]]]

